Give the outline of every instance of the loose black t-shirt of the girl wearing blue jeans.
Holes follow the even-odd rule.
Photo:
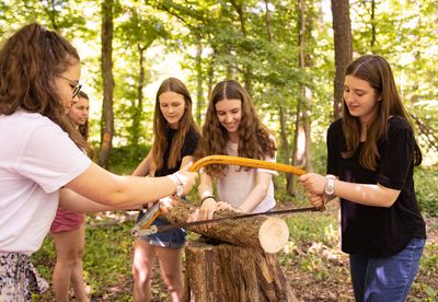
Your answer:
[[[377,171],[359,163],[362,150],[343,159],[346,150],[342,119],[327,131],[327,174],[358,184],[380,184],[401,190],[390,208],[370,207],[341,199],[342,249],[349,254],[390,256],[402,251],[412,239],[425,239],[426,229],[414,190],[414,137],[402,118],[390,119],[388,137],[378,143]]]

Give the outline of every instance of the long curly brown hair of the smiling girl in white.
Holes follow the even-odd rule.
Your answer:
[[[197,158],[227,154],[228,131],[220,124],[216,113],[216,104],[223,100],[242,101],[242,118],[239,125],[239,155],[256,160],[264,160],[266,154],[274,158],[277,148],[272,139],[273,133],[260,119],[251,96],[234,80],[219,82],[211,91]],[[226,170],[226,165],[206,167],[206,172],[211,176],[224,175]]]

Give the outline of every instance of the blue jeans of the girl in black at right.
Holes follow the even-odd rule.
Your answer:
[[[349,255],[356,301],[405,301],[425,243],[424,239],[413,239],[403,251],[389,257]]]

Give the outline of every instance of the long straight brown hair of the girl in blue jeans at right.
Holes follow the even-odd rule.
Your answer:
[[[406,109],[399,95],[394,77],[388,61],[376,55],[362,56],[354,60],[346,69],[345,76],[367,81],[374,90],[377,97],[376,114],[367,124],[367,139],[360,154],[360,164],[369,170],[376,171],[379,158],[378,143],[388,133],[389,120],[392,116],[397,116],[410,125],[413,130]],[[361,124],[358,117],[349,114],[348,107],[343,102],[343,130],[346,139],[347,150],[343,156],[351,158],[360,143]],[[414,164],[422,163],[422,151],[415,141]]]

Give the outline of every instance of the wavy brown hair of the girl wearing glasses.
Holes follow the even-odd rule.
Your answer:
[[[79,62],[74,47],[56,32],[37,23],[22,27],[0,50],[0,114],[18,109],[42,114],[84,148],[55,88],[55,79]]]

